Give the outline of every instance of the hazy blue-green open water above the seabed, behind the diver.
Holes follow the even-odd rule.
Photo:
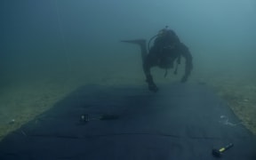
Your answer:
[[[254,0],[1,0],[0,86],[49,78],[136,77],[140,51],[121,39],[168,25],[194,57],[194,76],[255,76]]]

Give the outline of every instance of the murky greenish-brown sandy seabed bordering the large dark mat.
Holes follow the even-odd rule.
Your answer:
[[[108,76],[107,76],[108,75]],[[179,81],[172,74],[160,80],[157,84],[170,84]],[[158,74],[161,76],[161,74]],[[73,78],[72,78],[73,77]],[[91,78],[88,78],[91,77]],[[156,76],[157,77],[157,76]],[[56,102],[62,100],[68,93],[86,84],[100,85],[147,85],[140,76],[106,76],[92,78],[91,76],[68,76],[61,78],[45,78],[36,82],[23,82],[6,86],[0,92],[0,140],[8,133],[20,128],[23,124],[34,119],[44,111],[52,108]],[[234,111],[253,134],[256,135],[256,77],[234,78],[232,76],[192,76],[188,84],[202,84],[212,87],[222,100]],[[161,88],[160,88],[161,90]],[[24,134],[26,134],[24,132]]]

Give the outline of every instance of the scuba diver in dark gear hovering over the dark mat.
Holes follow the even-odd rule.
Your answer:
[[[150,46],[150,42],[155,38],[154,45]],[[180,42],[179,37],[175,32],[167,26],[161,29],[156,36],[153,36],[147,44],[145,39],[124,40],[124,43],[139,44],[141,50],[141,58],[143,63],[143,71],[148,83],[148,89],[152,92],[157,92],[158,88],[154,83],[153,76],[151,76],[150,68],[159,67],[165,69],[164,76],[167,75],[167,69],[173,68],[174,61],[177,64],[174,74],[177,74],[178,65],[180,64],[180,57],[183,56],[186,60],[185,74],[182,76],[180,82],[185,83],[193,68],[192,55],[185,44]]]

